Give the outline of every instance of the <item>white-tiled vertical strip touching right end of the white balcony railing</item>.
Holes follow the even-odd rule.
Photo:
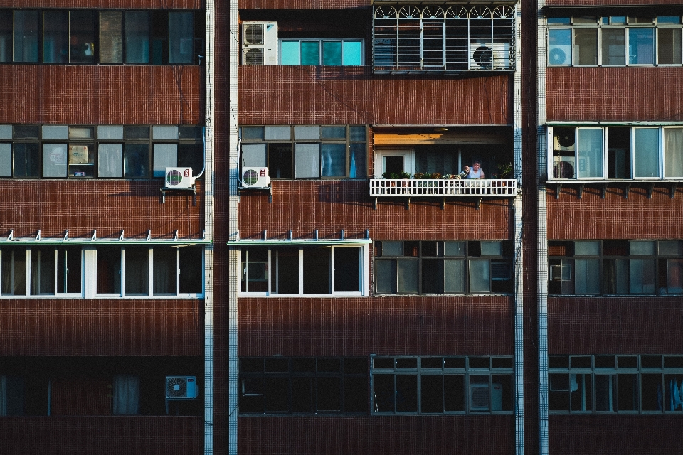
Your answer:
[[[519,191],[512,201],[514,215],[514,435],[515,453],[524,455],[524,257],[522,255],[522,143],[521,143],[521,4],[514,9],[514,73],[512,117],[514,127],[514,176]]]

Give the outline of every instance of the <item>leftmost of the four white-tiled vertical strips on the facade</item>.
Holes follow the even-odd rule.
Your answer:
[[[204,454],[213,454],[213,41],[216,21],[214,0],[206,0],[204,50]]]

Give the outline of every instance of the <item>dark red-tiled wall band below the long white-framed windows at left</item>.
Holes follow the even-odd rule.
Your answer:
[[[0,305],[0,355],[202,352],[203,300],[1,299]]]

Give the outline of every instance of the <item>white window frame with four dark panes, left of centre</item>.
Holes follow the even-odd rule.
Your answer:
[[[314,247],[316,249],[329,248],[331,249],[330,263],[329,263],[329,294],[304,294],[304,250],[303,247],[298,248],[298,267],[299,267],[299,283],[298,283],[298,293],[297,294],[278,294],[273,289],[275,287],[275,282],[277,280],[277,275],[275,274],[275,255],[273,250],[277,249],[277,245],[270,245],[268,247],[268,291],[265,292],[244,292],[240,284],[238,296],[268,296],[268,297],[359,297],[359,296],[369,296],[369,243],[358,243],[358,244],[348,244],[348,245],[327,245]],[[282,245],[285,246],[285,245]],[[266,247],[265,245],[254,245],[254,247]],[[248,246],[243,247],[248,250]],[[361,249],[361,259],[360,259],[360,277],[359,277],[359,291],[334,291],[334,250],[337,248],[360,248]],[[241,259],[240,259],[241,262]],[[246,264],[246,272],[248,274],[249,262]]]

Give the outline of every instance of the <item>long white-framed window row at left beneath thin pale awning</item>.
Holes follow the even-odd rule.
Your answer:
[[[201,296],[201,247],[0,247],[1,296]],[[88,297],[92,297],[88,296]]]

